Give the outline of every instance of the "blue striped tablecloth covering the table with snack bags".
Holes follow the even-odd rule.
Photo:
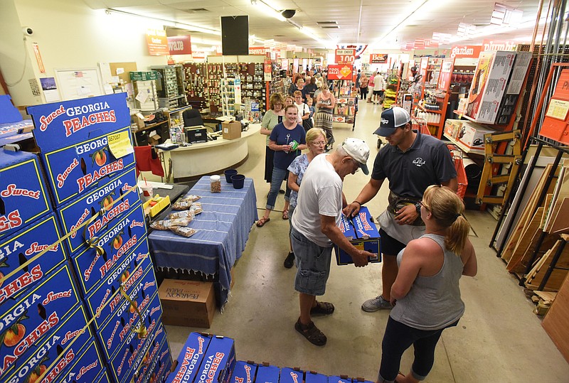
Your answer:
[[[223,177],[222,177],[223,178]],[[257,220],[257,196],[251,178],[243,189],[221,180],[221,193],[211,193],[209,176],[188,191],[199,195],[203,212],[188,225],[198,230],[186,238],[169,231],[154,230],[148,236],[156,266],[160,269],[191,270],[219,276],[220,304],[228,299],[230,269],[241,257],[249,232]]]

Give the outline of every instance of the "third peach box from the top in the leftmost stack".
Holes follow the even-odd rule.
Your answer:
[[[44,277],[33,289],[0,306],[0,377],[36,342],[68,318],[79,303],[68,264]]]

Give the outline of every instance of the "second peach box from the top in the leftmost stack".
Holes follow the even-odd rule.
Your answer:
[[[31,225],[23,227],[21,231],[0,239],[0,276],[18,269],[21,264],[43,252],[50,244],[58,242],[59,237],[55,215],[50,213]],[[0,286],[0,306],[8,298],[17,300],[18,294],[36,285],[56,266],[65,261],[65,257],[64,247],[57,244],[46,254],[6,279]]]

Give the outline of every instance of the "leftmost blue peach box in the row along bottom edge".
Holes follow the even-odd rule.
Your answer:
[[[211,342],[211,335],[190,333],[178,357],[178,365],[166,379],[166,382],[193,382],[198,374],[203,355]],[[277,382],[275,382],[277,383]]]

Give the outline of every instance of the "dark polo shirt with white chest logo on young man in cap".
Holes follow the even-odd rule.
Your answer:
[[[405,152],[385,145],[373,162],[371,178],[389,180],[389,189],[402,197],[422,198],[430,185],[440,185],[457,177],[447,146],[432,136],[417,132],[413,145]]]

